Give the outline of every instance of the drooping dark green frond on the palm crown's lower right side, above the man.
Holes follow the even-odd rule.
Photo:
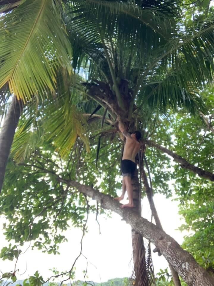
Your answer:
[[[188,63],[167,72],[161,68],[152,72],[138,94],[139,108],[144,108],[144,104],[148,103],[150,108],[158,108],[162,112],[166,112],[169,107],[173,110],[184,108],[192,114],[198,109],[205,112],[206,108],[197,88],[201,83],[197,82],[197,75],[192,77],[192,72],[192,66]]]

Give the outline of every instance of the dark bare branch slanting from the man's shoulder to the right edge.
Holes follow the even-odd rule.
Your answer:
[[[150,140],[146,140],[146,144],[157,148],[158,150],[161,150],[162,152],[168,154],[169,156],[171,156],[172,158],[174,158],[174,161],[180,163],[180,166],[182,168],[191,170],[192,172],[196,173],[199,175],[199,177],[203,177],[206,179],[209,179],[210,181],[214,181],[214,174],[209,172],[209,171],[205,171],[199,167],[194,166],[193,164],[190,164],[188,161],[186,161],[184,158],[182,158],[181,156],[177,155],[176,153],[172,152],[171,150],[158,145]]]

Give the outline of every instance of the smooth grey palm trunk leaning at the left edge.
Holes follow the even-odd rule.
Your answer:
[[[22,102],[13,96],[0,133],[0,192],[4,181],[7,159],[22,110]]]

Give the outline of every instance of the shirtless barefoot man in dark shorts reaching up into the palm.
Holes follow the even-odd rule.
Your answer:
[[[141,144],[138,141],[141,138],[141,133],[135,131],[131,135],[125,130],[124,125],[120,121],[120,118],[117,118],[119,122],[119,130],[123,133],[126,138],[126,143],[123,151],[121,171],[122,171],[122,195],[114,200],[123,200],[125,192],[127,190],[129,203],[122,205],[122,208],[128,207],[133,208],[133,186],[131,184],[131,178],[134,175],[136,169],[135,156],[140,150]]]

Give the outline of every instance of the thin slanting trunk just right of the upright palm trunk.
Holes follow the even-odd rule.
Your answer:
[[[148,201],[149,201],[149,204],[150,204],[150,209],[152,211],[152,216],[155,219],[155,224],[156,224],[156,226],[158,226],[160,229],[163,230],[162,225],[161,225],[161,221],[160,221],[160,219],[158,217],[158,212],[157,212],[157,210],[155,208],[155,203],[154,203],[154,200],[153,200],[152,189],[150,188],[150,186],[148,184],[148,180],[147,180],[147,176],[146,176],[146,172],[144,170],[144,165],[143,164],[142,164],[141,172],[142,172],[141,175],[142,175],[144,188],[145,188],[145,191],[146,191],[146,194],[147,194],[147,198],[148,198]],[[158,252],[158,250],[157,250],[157,252]],[[175,286],[181,286],[178,273],[176,271],[174,271],[174,268],[171,266],[171,264],[169,264],[169,268],[171,270],[171,275],[172,275],[172,279],[173,279],[174,285]]]

